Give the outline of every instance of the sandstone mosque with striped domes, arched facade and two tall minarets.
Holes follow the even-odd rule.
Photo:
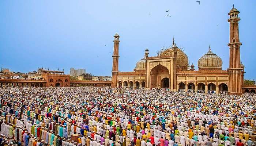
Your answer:
[[[112,87],[131,88],[166,88],[170,91],[226,91],[230,95],[241,95],[243,89],[244,68],[240,61],[238,22],[240,12],[232,8],[228,13],[230,24],[229,68],[222,69],[222,59],[209,50],[199,58],[195,65],[189,66],[188,56],[174,42],[157,56],[149,57],[146,49],[144,58],[140,59],[133,72],[118,71],[118,45],[120,36],[114,35],[114,51],[112,66]]]

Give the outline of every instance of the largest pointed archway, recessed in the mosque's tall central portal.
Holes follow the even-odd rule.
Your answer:
[[[165,66],[159,64],[155,66],[153,69],[151,69],[150,71],[150,80],[149,80],[150,88],[161,87],[161,82],[162,82],[161,76],[169,77],[170,73]],[[167,81],[166,81],[166,84],[167,84]]]

